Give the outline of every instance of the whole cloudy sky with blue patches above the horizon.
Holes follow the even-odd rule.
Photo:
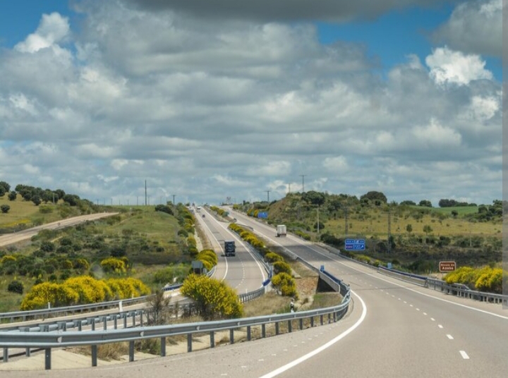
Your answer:
[[[0,181],[502,198],[502,0],[0,2]]]

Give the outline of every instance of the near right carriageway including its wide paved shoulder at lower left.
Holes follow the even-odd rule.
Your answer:
[[[241,214],[235,217],[238,224],[252,226],[273,243],[317,267],[325,265],[349,283],[350,314],[335,324],[250,343],[73,370],[73,377],[507,377],[508,314],[501,305],[408,284],[294,236],[275,238],[274,228]],[[69,372],[5,376],[49,374],[60,378]]]

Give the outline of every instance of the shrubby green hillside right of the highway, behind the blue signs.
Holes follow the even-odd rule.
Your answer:
[[[434,208],[309,192],[236,207],[253,217],[266,212],[268,223],[336,248],[344,248],[346,238],[365,239],[365,255],[413,272],[433,272],[440,260],[482,266],[502,259],[500,201]]]

